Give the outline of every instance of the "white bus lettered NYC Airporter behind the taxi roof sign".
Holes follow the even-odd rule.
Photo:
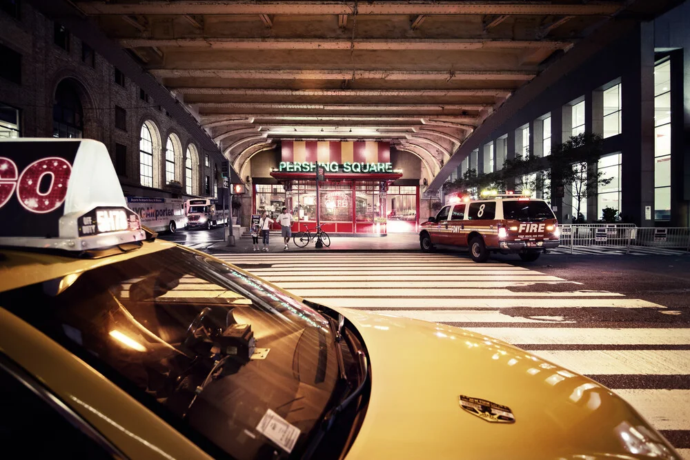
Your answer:
[[[187,226],[182,199],[127,197],[127,205],[139,214],[142,226],[155,232],[175,233],[178,228]]]

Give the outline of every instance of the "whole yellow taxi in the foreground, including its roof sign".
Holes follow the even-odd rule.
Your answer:
[[[0,192],[0,442],[23,457],[680,458],[507,343],[159,241],[96,141],[0,141]]]

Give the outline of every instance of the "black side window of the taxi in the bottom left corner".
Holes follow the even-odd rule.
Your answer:
[[[55,397],[40,383],[28,376],[22,381],[15,377],[15,370],[10,372],[14,366],[0,354],[1,446],[15,446],[27,459],[53,458],[58,452],[64,459],[119,458],[112,446],[103,445],[105,440],[96,441],[88,434],[95,430],[86,421],[69,409],[58,410],[49,403]],[[17,372],[23,370],[17,368]]]

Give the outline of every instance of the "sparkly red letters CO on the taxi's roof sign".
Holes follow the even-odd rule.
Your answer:
[[[72,165],[59,157],[34,161],[19,174],[17,165],[9,158],[0,157],[0,208],[17,193],[17,200],[30,212],[45,214],[60,207],[67,197],[67,183]],[[41,192],[41,181],[48,177],[50,186]]]

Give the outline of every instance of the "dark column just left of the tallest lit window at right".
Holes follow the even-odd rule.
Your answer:
[[[654,24],[641,23],[635,34],[630,71],[622,74],[622,215],[652,227],[654,210]],[[645,219],[651,206],[652,219]]]

